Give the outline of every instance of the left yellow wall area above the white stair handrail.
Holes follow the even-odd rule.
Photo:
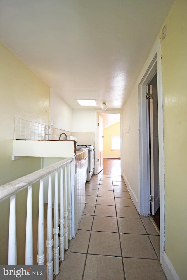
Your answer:
[[[28,173],[35,160],[11,160],[14,118],[48,124],[50,88],[0,42],[0,185]],[[8,172],[10,171],[11,172]]]

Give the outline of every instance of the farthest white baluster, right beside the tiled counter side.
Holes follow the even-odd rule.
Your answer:
[[[68,193],[68,238],[72,240],[72,201],[71,201],[71,169],[70,164],[67,165],[67,193]]]

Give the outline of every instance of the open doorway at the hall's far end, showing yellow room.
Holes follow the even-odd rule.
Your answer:
[[[97,171],[103,172],[107,162],[111,161],[113,164],[121,167],[121,120],[120,113],[116,112],[98,112],[97,113]],[[117,161],[118,160],[118,161]],[[115,166],[114,166],[115,169]],[[114,170],[113,169],[113,170]],[[121,170],[121,168],[120,168]],[[121,171],[120,171],[121,175]]]

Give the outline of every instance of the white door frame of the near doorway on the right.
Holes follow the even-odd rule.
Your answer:
[[[139,213],[150,214],[149,160],[148,160],[148,116],[146,109],[146,85],[157,71],[158,86],[158,141],[159,141],[159,190],[160,190],[160,261],[164,251],[164,136],[163,136],[163,91],[162,91],[162,59],[161,42],[157,40],[142,70],[138,86],[139,95],[139,157],[140,157],[140,188]]]

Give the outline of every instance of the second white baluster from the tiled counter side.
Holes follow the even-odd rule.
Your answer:
[[[68,209],[67,206],[67,165],[64,167],[64,245],[68,249]]]

